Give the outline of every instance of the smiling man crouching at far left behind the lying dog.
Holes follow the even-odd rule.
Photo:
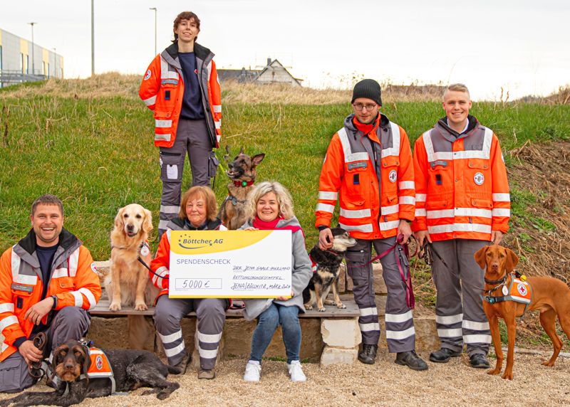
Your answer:
[[[33,385],[29,365],[86,334],[87,310],[101,296],[89,250],[63,228],[63,203],[40,196],[30,220],[28,235],[0,258],[0,392],[6,393]],[[38,349],[33,339],[43,334],[46,344]]]

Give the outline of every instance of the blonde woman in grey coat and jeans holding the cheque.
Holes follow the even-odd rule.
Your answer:
[[[291,381],[306,381],[299,361],[301,324],[299,312],[305,312],[303,290],[311,279],[311,260],[305,249],[305,236],[293,213],[291,194],[279,182],[262,182],[247,196],[249,220],[245,230],[291,231],[291,297],[245,300],[244,317],[257,318],[252,337],[252,353],[245,367],[245,381],[259,381],[261,357],[281,324]]]

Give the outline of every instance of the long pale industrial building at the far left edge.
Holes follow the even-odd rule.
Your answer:
[[[0,88],[48,78],[63,78],[63,56],[0,29]]]

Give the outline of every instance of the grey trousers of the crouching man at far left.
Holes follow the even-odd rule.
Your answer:
[[[63,307],[47,329],[48,343],[44,355],[69,339],[81,339],[89,329],[90,316],[79,307]],[[28,374],[28,364],[19,351],[0,362],[0,392],[19,393],[36,383]]]

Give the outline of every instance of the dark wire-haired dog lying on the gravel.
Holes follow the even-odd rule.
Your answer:
[[[143,395],[157,393],[157,398],[163,400],[180,387],[180,384],[166,381],[169,373],[180,372],[163,364],[150,351],[116,349],[105,350],[105,354],[113,369],[115,391],[152,387],[152,390],[145,391]],[[9,406],[11,403],[15,403],[15,406],[71,406],[81,403],[86,397],[109,396],[112,393],[112,381],[108,377],[93,379],[86,376],[90,366],[88,347],[75,340],[68,341],[53,351],[52,367],[54,375],[60,381],[56,391],[21,393],[14,398],[1,400],[0,406]]]

